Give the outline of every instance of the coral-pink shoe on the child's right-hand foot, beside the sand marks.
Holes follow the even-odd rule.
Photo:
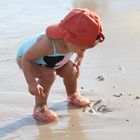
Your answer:
[[[81,107],[88,106],[90,104],[90,100],[79,95],[78,92],[68,96],[68,102]]]

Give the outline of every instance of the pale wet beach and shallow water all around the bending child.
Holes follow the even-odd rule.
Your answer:
[[[62,0],[59,6],[57,2],[0,2],[0,140],[139,140],[140,1]],[[44,124],[32,117],[34,97],[28,93],[15,56],[23,40],[59,21],[72,7],[94,10],[103,20],[106,40],[87,51],[79,90],[93,102],[101,99],[107,105],[96,112],[68,105],[58,77],[48,106],[59,121]]]

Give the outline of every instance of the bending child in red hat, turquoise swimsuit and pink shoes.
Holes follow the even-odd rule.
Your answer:
[[[21,45],[17,63],[23,70],[29,92],[35,96],[35,119],[48,123],[58,120],[46,103],[56,75],[63,78],[69,103],[81,107],[90,104],[79,94],[77,79],[86,49],[103,40],[100,18],[88,9],[77,8],[59,24],[47,27],[46,33]],[[73,53],[77,54],[75,63],[70,60]]]

